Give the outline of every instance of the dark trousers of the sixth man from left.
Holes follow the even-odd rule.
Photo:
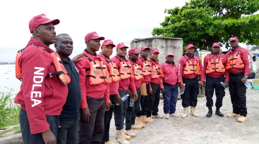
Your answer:
[[[141,92],[140,89],[136,89],[137,90],[137,94],[138,94],[138,98],[140,98],[141,96]],[[128,108],[126,111],[126,123],[125,123],[125,130],[131,130],[131,125],[135,124],[135,119],[136,119],[136,113],[138,111],[138,107],[139,107],[139,102],[140,99],[138,99],[137,101],[135,101],[133,107],[129,106],[130,103],[130,98],[128,100]]]

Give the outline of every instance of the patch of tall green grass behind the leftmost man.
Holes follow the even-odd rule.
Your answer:
[[[20,105],[13,103],[11,97],[14,90],[0,92],[0,128],[19,124]]]

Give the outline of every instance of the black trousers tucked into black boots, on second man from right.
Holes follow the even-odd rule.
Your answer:
[[[221,85],[220,82],[225,82],[225,77],[222,75],[221,77],[213,78],[209,75],[206,75],[206,87],[205,87],[205,96],[206,96],[206,106],[213,107],[213,93],[215,89],[216,94],[216,107],[222,107],[222,100],[225,96],[225,88]]]

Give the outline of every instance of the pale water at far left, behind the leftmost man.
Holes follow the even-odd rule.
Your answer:
[[[16,95],[20,91],[21,84],[22,82],[15,77],[15,65],[0,65],[0,91],[9,92],[12,88],[14,89],[12,94]]]

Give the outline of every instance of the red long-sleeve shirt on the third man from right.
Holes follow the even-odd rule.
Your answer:
[[[202,64],[201,64],[201,59],[197,56],[193,56],[191,58],[187,54],[185,54],[183,57],[180,58],[180,60],[178,62],[178,83],[182,82],[182,77],[188,78],[188,79],[198,77],[198,75],[195,74],[195,73],[188,74],[188,75],[183,73],[183,69],[184,69],[184,67],[186,65],[186,62],[187,62],[187,60],[184,57],[186,57],[188,59],[188,61],[191,61],[192,63],[194,63],[196,61],[196,58],[198,59],[200,69],[201,69],[200,80],[204,81],[204,73],[203,73],[203,67],[202,67]]]

